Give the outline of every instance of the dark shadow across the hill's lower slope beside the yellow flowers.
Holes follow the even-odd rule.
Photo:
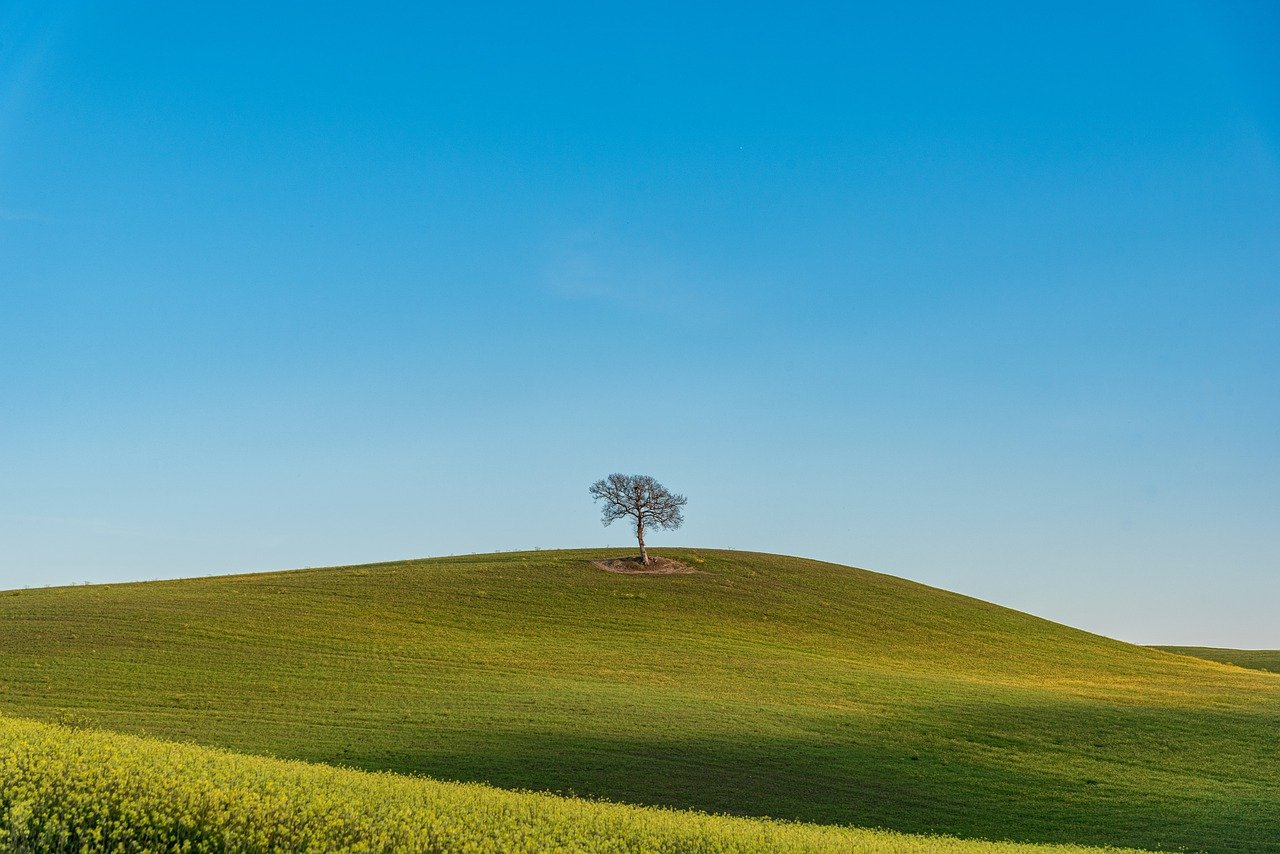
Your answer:
[[[969,736],[964,744],[933,735],[902,746],[876,734],[838,729],[804,740],[732,741],[494,731],[465,746],[452,741],[448,749],[426,746],[434,739],[424,734],[421,749],[352,749],[339,761],[504,789],[824,825],[989,840],[1280,853],[1274,787],[1266,781],[1219,782],[1185,768],[1162,773],[1158,757],[1135,766],[1133,752],[1142,745],[1132,741],[1142,737],[1140,726],[1117,725],[1110,717],[1091,721],[1079,713],[1075,720],[1055,717],[1050,709],[1012,718],[993,709],[969,708],[964,714]],[[974,720],[983,717],[989,720]],[[991,735],[973,740],[975,730]],[[1130,743],[1116,745],[1112,757],[1107,740],[1117,734]],[[1082,737],[1093,739],[1092,757]],[[1061,762],[1047,766],[1043,745],[1020,749],[1036,739],[1060,741]]]

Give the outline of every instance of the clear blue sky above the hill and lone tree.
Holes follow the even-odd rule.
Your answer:
[[[1280,648],[1277,45],[0,1],[0,586],[626,544],[623,471],[689,495],[654,547]]]

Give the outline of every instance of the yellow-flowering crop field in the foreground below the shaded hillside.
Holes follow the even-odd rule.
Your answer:
[[[5,851],[1071,854],[590,803],[0,718]]]

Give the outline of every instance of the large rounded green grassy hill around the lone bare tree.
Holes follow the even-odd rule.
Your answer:
[[[819,823],[1280,851],[1280,677],[891,576],[669,551],[0,595],[0,712]]]

